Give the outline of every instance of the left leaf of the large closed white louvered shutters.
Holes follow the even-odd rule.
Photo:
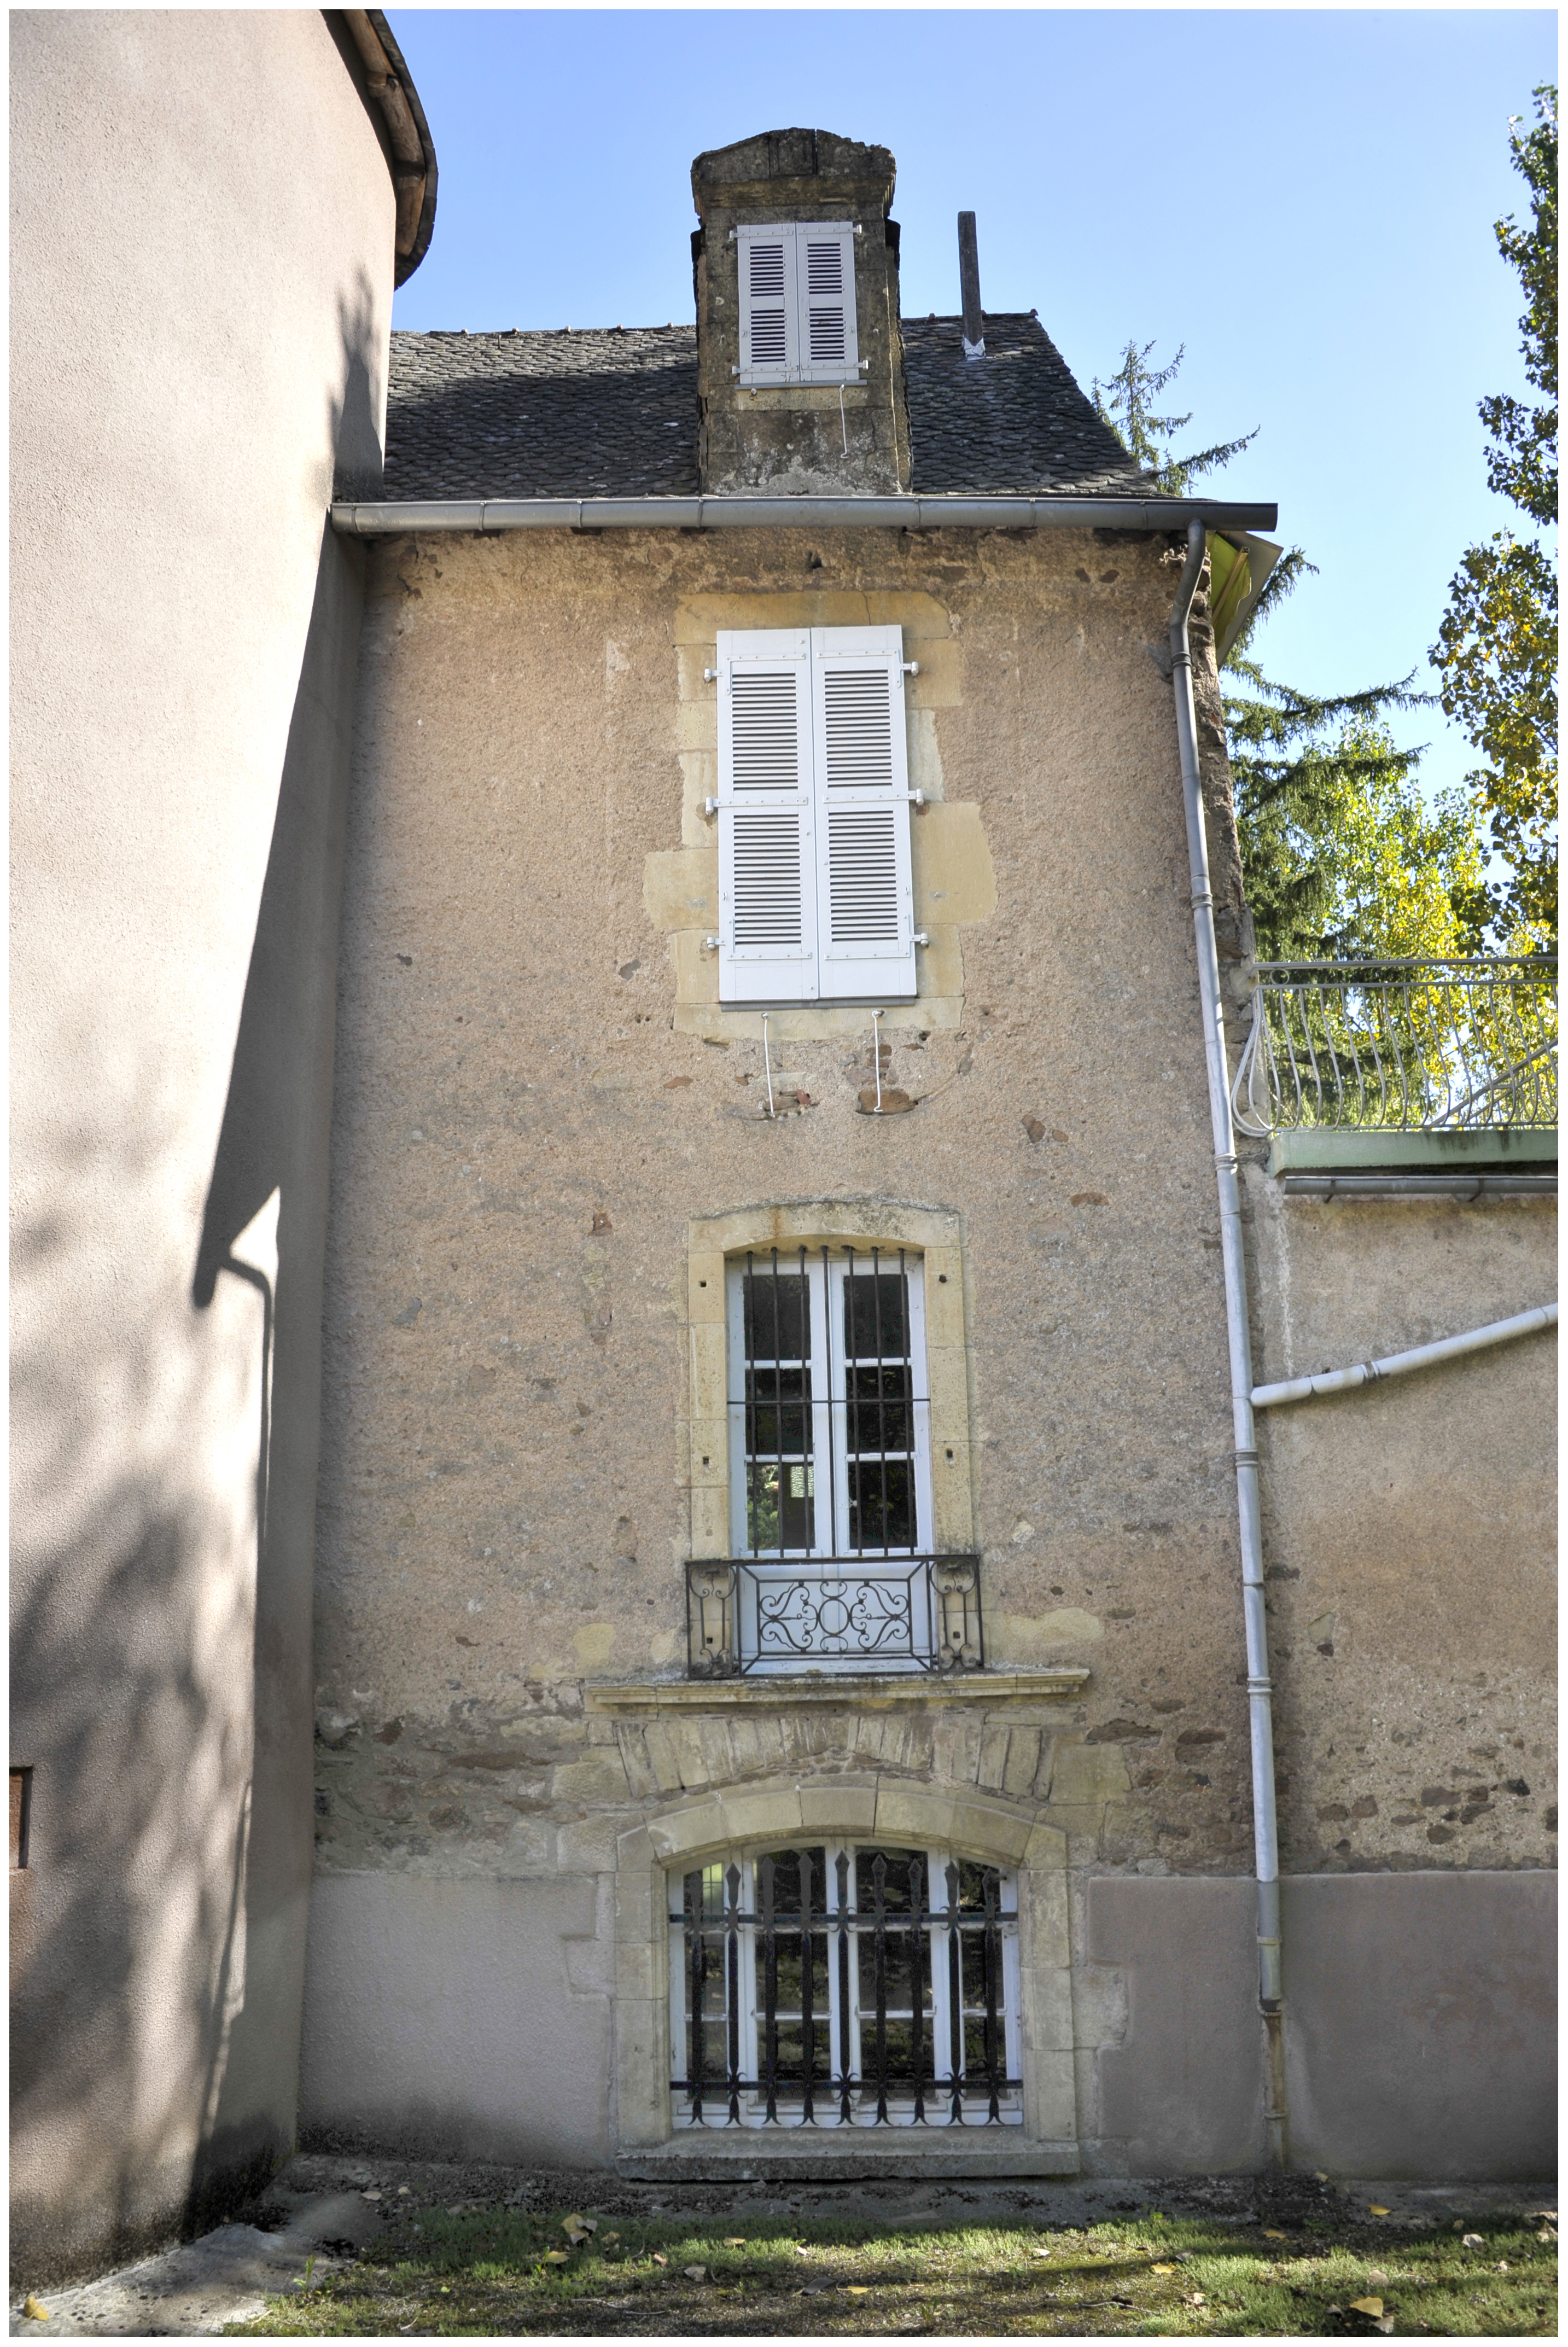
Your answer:
[[[817,1000],[807,629],[718,636],[718,1000]]]

